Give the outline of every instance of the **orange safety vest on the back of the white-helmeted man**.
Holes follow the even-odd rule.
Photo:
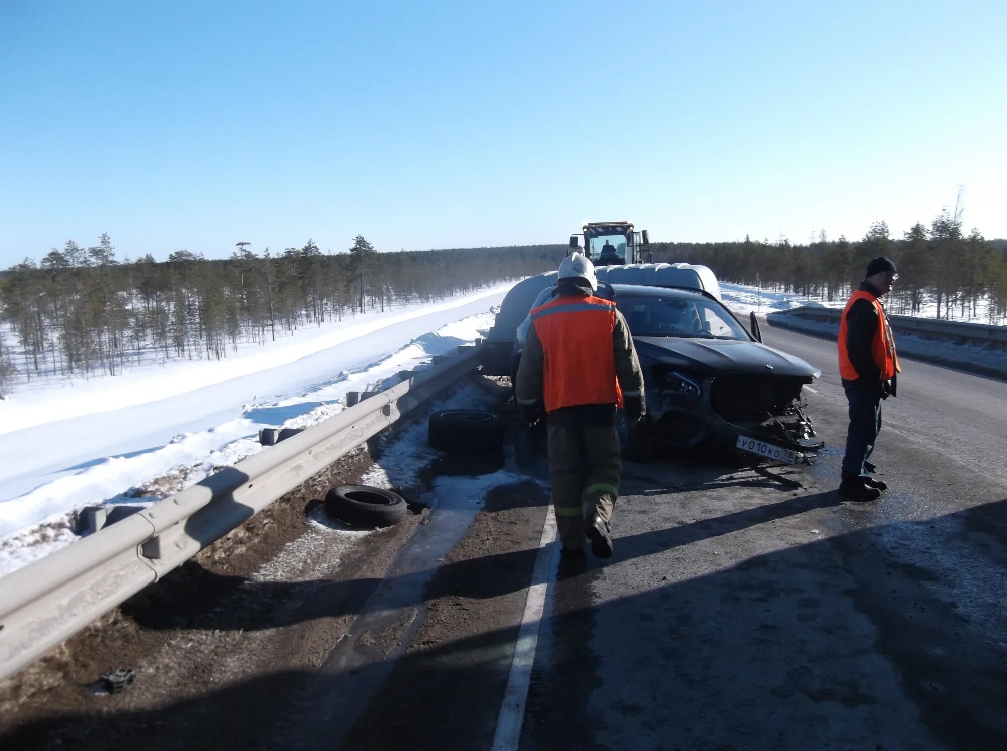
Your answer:
[[[560,296],[531,312],[542,342],[546,412],[589,404],[622,407],[615,375],[615,303]]]

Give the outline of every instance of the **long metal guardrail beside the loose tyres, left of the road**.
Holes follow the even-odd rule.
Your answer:
[[[478,347],[422,370],[0,580],[0,680],[161,579],[474,370]]]

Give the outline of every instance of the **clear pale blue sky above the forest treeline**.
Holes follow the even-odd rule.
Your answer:
[[[1007,237],[1007,3],[0,0],[0,267],[120,256]]]

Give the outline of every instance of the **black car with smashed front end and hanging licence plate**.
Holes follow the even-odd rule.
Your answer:
[[[709,293],[612,287],[646,386],[646,418],[634,435],[621,424],[630,456],[656,443],[730,446],[793,464],[822,447],[804,412],[820,370],[758,341]]]

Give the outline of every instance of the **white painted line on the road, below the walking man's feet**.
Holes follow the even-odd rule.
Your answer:
[[[528,686],[532,681],[532,664],[535,649],[539,644],[539,625],[546,605],[546,591],[553,571],[553,555],[559,547],[556,542],[556,515],[553,504],[546,508],[546,521],[542,525],[542,540],[539,554],[535,558],[532,584],[528,588],[525,615],[518,629],[518,643],[514,647],[514,660],[503,692],[503,704],[496,721],[496,735],[493,736],[492,751],[517,751],[521,740],[521,726],[525,722],[525,704],[528,701]]]

